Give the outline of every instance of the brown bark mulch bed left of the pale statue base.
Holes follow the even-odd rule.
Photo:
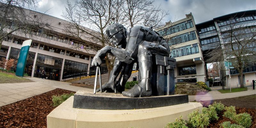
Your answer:
[[[54,109],[52,96],[71,92],[57,88],[0,107],[0,128],[46,128],[46,116]]]

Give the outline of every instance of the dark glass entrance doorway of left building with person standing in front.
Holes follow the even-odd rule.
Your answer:
[[[35,76],[38,78],[42,78],[42,71],[44,70],[45,75],[44,78],[45,79],[49,79],[49,80],[60,80],[60,69],[58,68],[52,68],[52,67],[47,67],[47,66],[43,66],[43,65],[37,65],[36,66],[36,73]]]

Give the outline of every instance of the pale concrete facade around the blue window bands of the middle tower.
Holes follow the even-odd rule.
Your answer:
[[[190,26],[190,28],[184,27],[184,23],[187,24],[188,22],[192,22],[192,26]],[[182,24],[182,27],[184,29],[179,31],[180,24]],[[177,27],[177,25],[179,26],[179,28]],[[172,28],[172,29],[178,28],[178,31],[173,32],[173,33],[171,32],[171,34],[165,34],[164,32],[168,33],[169,28]],[[165,30],[165,29],[167,29],[167,30]],[[167,40],[167,42],[170,46],[171,52],[174,52],[172,54],[175,54],[175,52],[177,52],[177,51],[181,52],[180,50],[177,50],[177,49],[180,49],[182,47],[187,47],[187,46],[192,47],[193,45],[197,44],[197,52],[195,52],[195,53],[191,53],[191,54],[187,54],[187,55],[184,55],[182,53],[182,55],[179,55],[179,56],[172,56],[172,58],[176,59],[176,63],[177,63],[177,68],[174,68],[175,82],[183,82],[183,80],[186,81],[189,79],[194,79],[193,81],[187,81],[190,83],[194,83],[194,82],[198,82],[198,81],[205,82],[205,80],[206,80],[205,74],[206,73],[205,73],[203,54],[201,51],[201,46],[200,46],[200,41],[199,41],[198,35],[195,34],[195,39],[192,39],[192,40],[181,41],[180,43],[178,41],[178,43],[174,43],[174,44],[170,43],[170,42],[172,42],[173,38],[180,36],[182,34],[188,33],[190,35],[191,32],[196,33],[197,30],[195,27],[195,20],[193,18],[192,13],[186,14],[186,18],[175,21],[173,23],[171,21],[167,22],[165,26],[158,28],[156,31],[158,31],[158,33],[160,35],[162,35]],[[169,29],[169,31],[171,31],[171,30]],[[186,49],[188,49],[188,48],[186,48]],[[173,50],[176,50],[176,51],[173,51]],[[184,52],[184,51],[182,51],[182,52]],[[183,70],[183,68],[186,69],[187,67],[192,67],[192,66],[196,68],[196,72],[185,73],[185,75],[180,74],[180,71]],[[183,71],[186,71],[186,70],[183,70]]]

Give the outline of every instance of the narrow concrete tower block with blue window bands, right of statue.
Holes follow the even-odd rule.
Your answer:
[[[167,22],[156,31],[166,39],[172,58],[176,59],[175,82],[205,82],[203,53],[192,13],[173,23]]]

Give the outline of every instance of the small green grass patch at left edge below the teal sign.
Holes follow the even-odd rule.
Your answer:
[[[20,78],[8,73],[0,72],[0,83],[21,83],[21,82],[34,82],[25,78]]]

